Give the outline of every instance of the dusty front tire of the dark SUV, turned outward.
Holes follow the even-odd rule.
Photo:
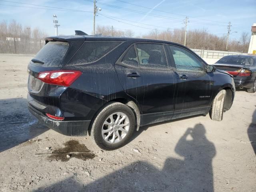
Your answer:
[[[212,109],[210,110],[210,117],[212,120],[221,121],[223,119],[225,97],[226,90],[221,90],[214,98]]]

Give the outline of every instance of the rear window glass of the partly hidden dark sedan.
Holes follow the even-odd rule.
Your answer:
[[[230,64],[230,65],[253,65],[253,58],[249,57],[223,57],[216,63]]]

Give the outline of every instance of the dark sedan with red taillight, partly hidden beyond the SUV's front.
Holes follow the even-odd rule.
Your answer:
[[[233,75],[238,88],[246,88],[250,93],[256,92],[256,56],[225,56],[213,65]]]

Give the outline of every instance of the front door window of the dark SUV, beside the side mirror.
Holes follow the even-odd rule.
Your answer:
[[[204,64],[192,53],[176,46],[170,46],[170,48],[177,70],[204,71]]]

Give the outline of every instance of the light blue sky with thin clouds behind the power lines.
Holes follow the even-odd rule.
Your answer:
[[[219,36],[227,33],[228,22],[231,22],[231,32],[238,32],[232,33],[231,38],[240,37],[242,32],[250,32],[252,24],[256,23],[256,0],[98,0],[97,6],[102,8],[99,13],[104,16],[96,16],[96,26],[109,25],[114,26],[116,30],[131,29],[136,36],[146,34],[150,29],[182,28],[184,27],[182,20],[186,16],[190,21],[188,30],[204,28]],[[133,12],[113,6],[130,9]],[[57,8],[88,12],[47,10]],[[38,27],[49,36],[55,34],[53,14],[58,16],[59,34],[74,34],[74,30],[92,34],[92,11],[92,0],[10,0],[9,2],[0,0],[0,21],[10,22],[15,19],[23,26]]]

